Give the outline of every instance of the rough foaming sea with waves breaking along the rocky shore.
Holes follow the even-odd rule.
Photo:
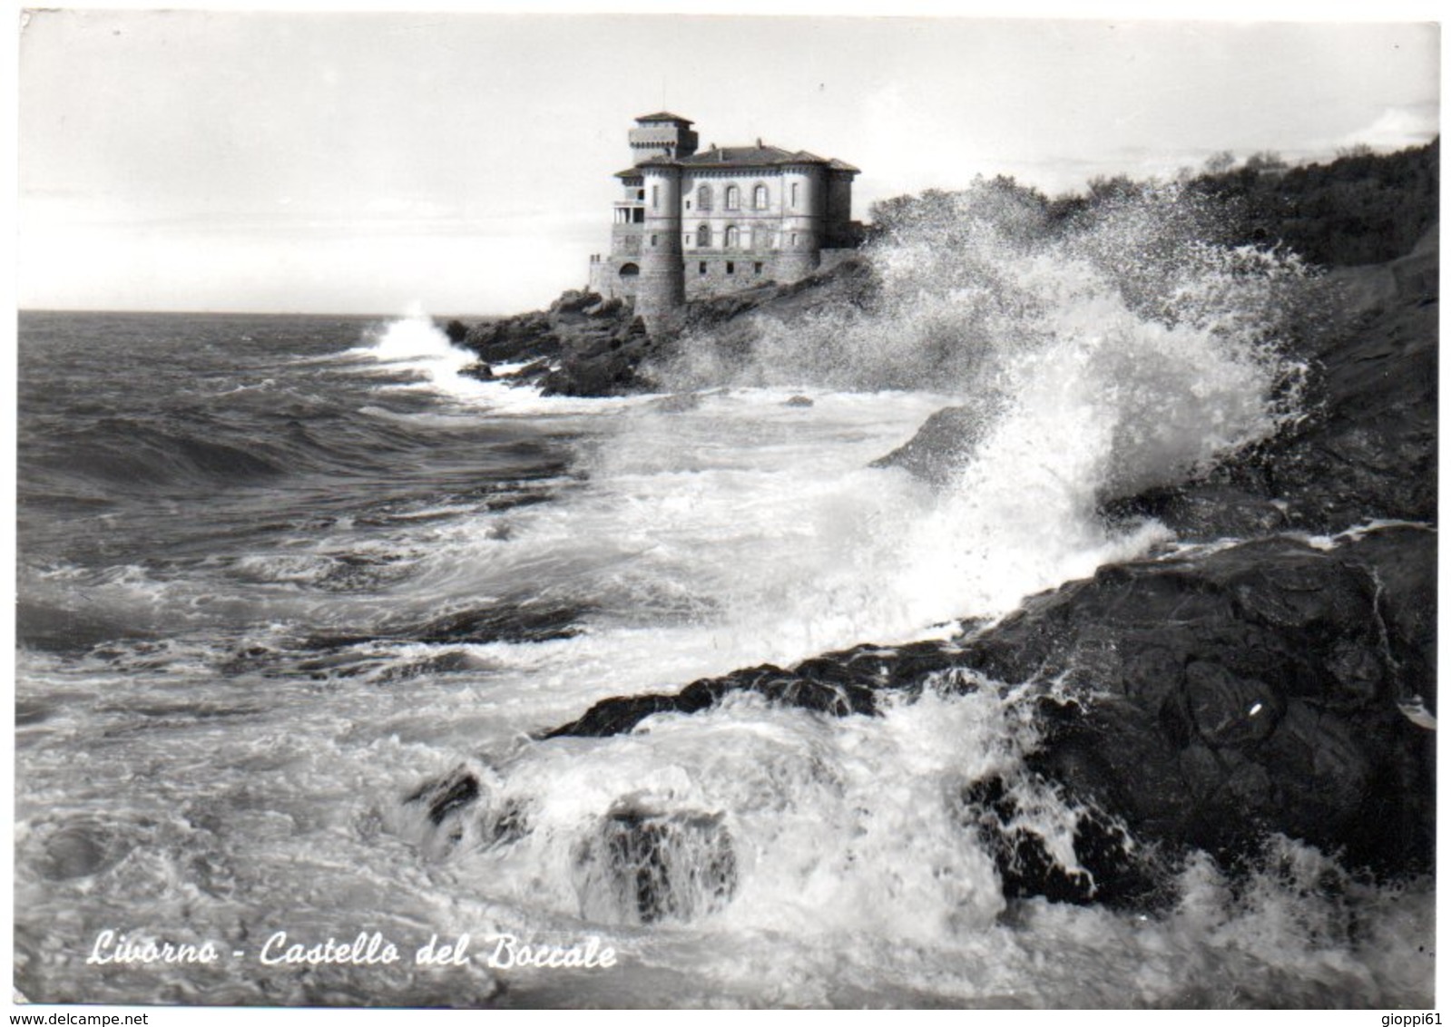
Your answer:
[[[1013,280],[1059,284],[1019,315],[1032,345],[963,370],[992,396],[971,458],[946,486],[876,467],[971,399],[914,377],[965,302],[923,300],[930,249],[887,270],[901,316],[781,329],[728,373],[702,341],[670,396],[479,381],[419,313],[23,312],[17,995],[1429,1005],[1432,882],[1288,838],[1248,876],[1190,856],[1162,908],[1006,898],[962,795],[1035,730],[991,682],[543,737],[607,696],[948,638],[1164,551],[1161,525],[1096,515],[1104,483],[1284,413],[1264,332],[1165,326],[1032,257]],[[477,795],[435,822],[415,796],[460,767]],[[1069,809],[1039,815],[1071,836]]]

